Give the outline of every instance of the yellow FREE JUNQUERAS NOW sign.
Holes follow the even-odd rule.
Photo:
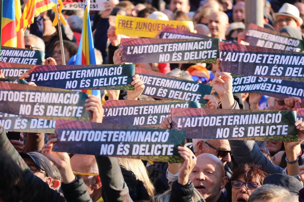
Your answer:
[[[192,21],[155,20],[131,16],[116,15],[115,33],[128,36],[154,38],[164,27],[173,27],[193,32]]]

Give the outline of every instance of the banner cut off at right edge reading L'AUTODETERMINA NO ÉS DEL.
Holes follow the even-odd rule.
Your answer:
[[[219,42],[221,71],[304,82],[304,54]]]

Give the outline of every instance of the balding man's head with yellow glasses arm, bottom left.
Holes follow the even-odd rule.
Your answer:
[[[95,156],[75,154],[71,158],[72,170],[85,182],[88,193],[93,202],[101,200],[101,180],[98,174],[98,166]]]

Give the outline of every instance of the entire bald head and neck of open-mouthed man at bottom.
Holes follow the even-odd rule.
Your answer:
[[[196,158],[195,167],[189,175],[194,187],[202,193],[207,202],[224,201],[221,190],[228,182],[228,178],[225,177],[223,163],[209,153],[203,153]]]

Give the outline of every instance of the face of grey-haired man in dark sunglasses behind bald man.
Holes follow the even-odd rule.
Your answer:
[[[228,140],[209,140],[207,143],[218,150],[231,151]],[[204,148],[205,148],[204,153],[210,153],[217,157],[217,150],[211,148],[208,145]],[[230,153],[228,153],[225,157],[219,158],[219,160],[222,161],[223,165],[225,165],[227,162],[230,162],[231,161]]]

